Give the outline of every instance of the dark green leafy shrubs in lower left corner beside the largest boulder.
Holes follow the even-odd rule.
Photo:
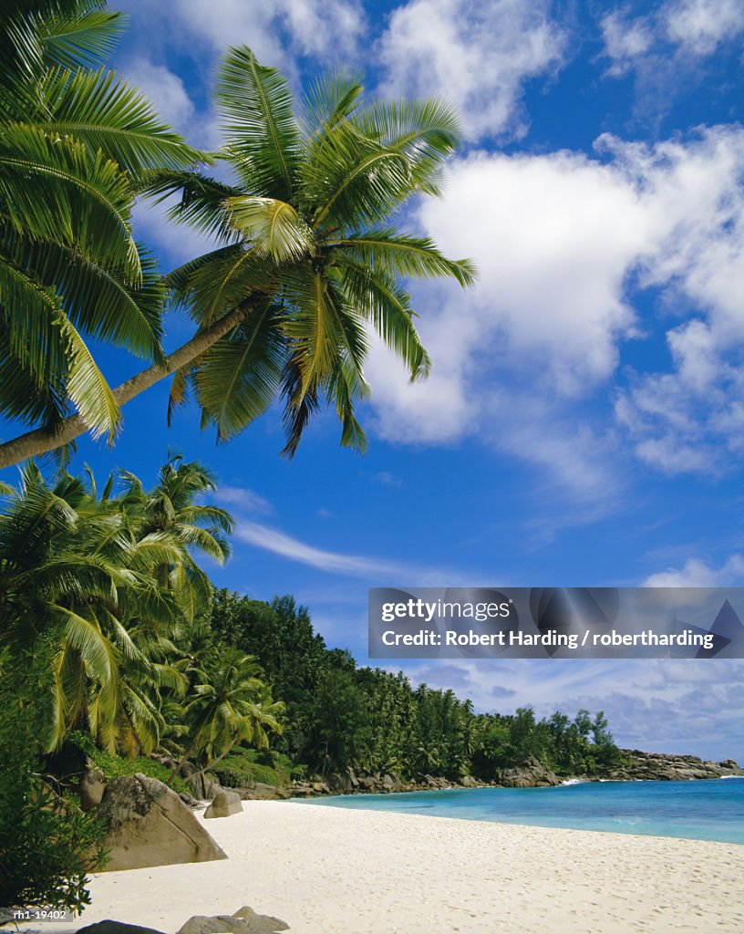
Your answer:
[[[103,828],[43,773],[37,701],[48,663],[41,652],[0,653],[0,905],[79,912]]]

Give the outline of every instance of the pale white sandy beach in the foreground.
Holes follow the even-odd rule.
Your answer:
[[[205,824],[229,860],[101,873],[83,917],[45,934],[103,918],[174,934],[244,904],[292,934],[744,930],[735,844],[286,801]]]

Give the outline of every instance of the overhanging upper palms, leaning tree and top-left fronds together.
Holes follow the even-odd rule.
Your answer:
[[[342,444],[363,446],[371,334],[412,378],[428,373],[400,278],[474,275],[389,223],[438,193],[455,116],[436,101],[364,104],[353,74],[316,81],[298,116],[285,78],[241,47],[218,77],[224,148],[199,152],[106,70],[119,27],[103,0],[7,0],[0,16],[0,414],[32,427],[0,445],[0,468],[84,432],[113,441],[121,406],[168,375],[171,403],[191,393],[218,439],[281,399],[286,453],[322,403]],[[172,219],[220,245],[160,276],[131,212],[173,195]],[[166,356],[168,306],[195,332]],[[91,337],[151,365],[112,389]]]

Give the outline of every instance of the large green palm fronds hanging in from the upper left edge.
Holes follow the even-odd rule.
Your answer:
[[[50,437],[71,408],[96,437],[119,428],[89,338],[162,361],[134,196],[145,171],[204,158],[103,67],[120,25],[103,0],[4,0],[0,15],[0,415]]]

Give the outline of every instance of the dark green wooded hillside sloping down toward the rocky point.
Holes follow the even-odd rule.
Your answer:
[[[287,705],[277,745],[311,771],[493,781],[530,757],[564,774],[601,773],[618,757],[601,712],[582,710],[573,720],[556,712],[539,721],[530,708],[476,715],[452,690],[358,668],[347,652],[326,647],[307,609],[291,597],[265,603],[218,590],[211,630],[259,660],[274,696]]]

